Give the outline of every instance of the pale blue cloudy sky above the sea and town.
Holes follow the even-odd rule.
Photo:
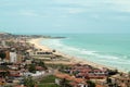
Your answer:
[[[0,32],[130,33],[130,0],[0,0]]]

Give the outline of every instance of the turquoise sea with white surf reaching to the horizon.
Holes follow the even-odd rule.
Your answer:
[[[64,39],[47,39],[42,45],[79,59],[130,71],[130,35],[63,34]]]

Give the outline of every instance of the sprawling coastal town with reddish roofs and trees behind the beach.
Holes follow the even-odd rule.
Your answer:
[[[36,48],[30,39],[0,33],[0,87],[130,87],[130,73],[69,62],[56,50]]]

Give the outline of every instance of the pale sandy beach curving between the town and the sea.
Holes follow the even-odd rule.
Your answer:
[[[35,45],[36,48],[38,49],[42,49],[44,51],[52,51],[52,49],[50,49],[49,47],[47,46],[42,46],[40,42],[43,40],[44,38],[37,38],[37,39],[30,39],[28,42]],[[104,66],[102,64],[98,64],[98,63],[94,63],[94,62],[90,62],[90,61],[87,61],[87,60],[83,60],[83,59],[79,59],[79,58],[76,58],[76,57],[70,57],[68,54],[64,54],[60,51],[56,50],[55,54],[58,54],[58,55],[62,55],[66,59],[68,59],[69,61],[66,62],[66,61],[56,61],[56,64],[57,63],[63,63],[63,64],[76,64],[76,63],[80,63],[80,64],[89,64],[89,65],[92,65],[94,67],[98,67],[98,69],[103,69],[103,67],[107,67],[107,69],[110,69],[110,70],[115,70],[114,67],[110,67],[110,66]]]

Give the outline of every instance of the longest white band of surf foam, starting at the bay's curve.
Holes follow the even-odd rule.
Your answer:
[[[100,59],[114,59],[114,60],[117,60],[119,58],[117,57],[113,57],[113,55],[103,55],[103,54],[100,54],[98,51],[89,51],[87,49],[81,49],[81,48],[76,48],[76,47],[70,47],[70,46],[66,46],[62,42],[61,39],[51,39],[51,40],[48,40],[48,44],[52,47],[56,47],[56,49],[58,50],[63,50],[63,51],[72,51],[74,53],[77,53],[77,54],[83,54],[83,55],[92,55],[92,57],[95,57],[95,58],[100,58]],[[61,49],[62,47],[62,49]]]

